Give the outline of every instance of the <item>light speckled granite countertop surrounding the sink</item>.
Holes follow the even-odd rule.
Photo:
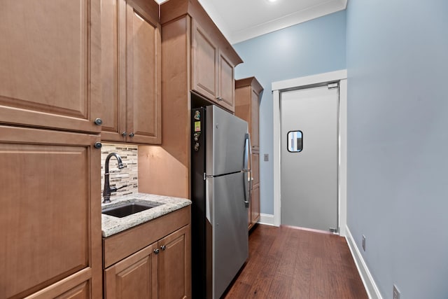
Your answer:
[[[127,230],[128,228],[133,228],[136,225],[145,223],[146,221],[150,221],[154,218],[158,218],[172,211],[176,211],[177,209],[187,207],[191,204],[191,200],[180,197],[134,193],[130,195],[114,197],[111,203],[102,204],[102,209],[106,207],[115,207],[124,202],[149,202],[160,205],[158,207],[153,207],[152,209],[147,209],[146,211],[141,211],[139,213],[132,214],[123,218],[102,214],[101,222],[103,237],[110,237],[111,235],[115,235],[118,232],[122,232],[123,230]]]

